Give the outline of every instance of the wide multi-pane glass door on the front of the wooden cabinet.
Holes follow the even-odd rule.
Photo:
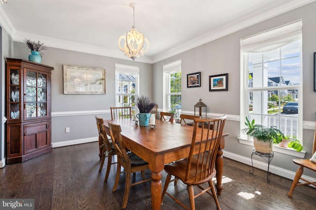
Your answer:
[[[26,71],[26,118],[47,116],[47,75]]]

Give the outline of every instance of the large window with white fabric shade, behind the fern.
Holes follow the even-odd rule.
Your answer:
[[[241,127],[248,117],[302,139],[302,22],[241,39],[240,48]]]

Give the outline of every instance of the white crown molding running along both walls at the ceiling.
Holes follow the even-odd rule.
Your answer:
[[[179,53],[183,53],[187,50],[193,49],[215,39],[221,38],[238,30],[244,29],[246,27],[252,26],[269,18],[275,17],[292,9],[298,8],[305,4],[311,3],[315,0],[277,0],[272,4],[269,4],[265,7],[262,7],[256,13],[243,16],[242,18],[231,22],[229,24],[223,25],[216,29],[212,29],[205,34],[202,34],[186,43],[183,43],[179,46],[176,46],[172,49],[169,49],[165,52],[160,52],[157,56],[154,57],[140,57],[136,61],[145,62],[145,63],[155,63],[160,60],[167,59],[171,56],[175,56]],[[31,39],[37,39],[41,42],[45,43],[48,47],[54,47],[65,50],[72,50],[82,53],[89,53],[94,55],[106,56],[111,58],[130,60],[120,51],[109,50],[106,48],[101,48],[92,45],[81,44],[72,41],[66,41],[61,39],[55,39],[45,36],[40,36],[36,34],[24,33],[20,31],[16,31],[15,27],[12,25],[11,21],[7,17],[6,13],[0,7],[0,25],[7,31],[13,41],[23,42],[25,37]]]

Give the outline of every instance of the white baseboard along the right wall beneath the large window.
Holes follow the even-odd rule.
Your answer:
[[[244,164],[249,165],[251,167],[251,158],[250,157],[240,156],[238,154],[234,154],[234,153],[231,153],[231,152],[228,152],[225,150],[223,150],[223,156],[230,158],[230,159],[233,159],[233,160],[236,160],[238,162],[244,163]],[[260,162],[257,160],[253,160],[252,162],[253,162],[253,167],[267,171],[268,163]],[[249,170],[250,170],[250,167],[249,167]],[[271,164],[270,164],[269,171],[273,174],[276,174],[280,177],[284,177],[284,178],[289,179],[289,180],[293,180],[294,176],[295,176],[295,172],[288,171],[288,170],[273,166]],[[312,181],[312,182],[316,181],[315,178],[304,176],[304,175],[302,175],[302,178],[309,180],[309,181]]]

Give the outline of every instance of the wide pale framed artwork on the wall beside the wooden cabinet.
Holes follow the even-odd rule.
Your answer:
[[[105,69],[63,65],[64,94],[105,94]]]

